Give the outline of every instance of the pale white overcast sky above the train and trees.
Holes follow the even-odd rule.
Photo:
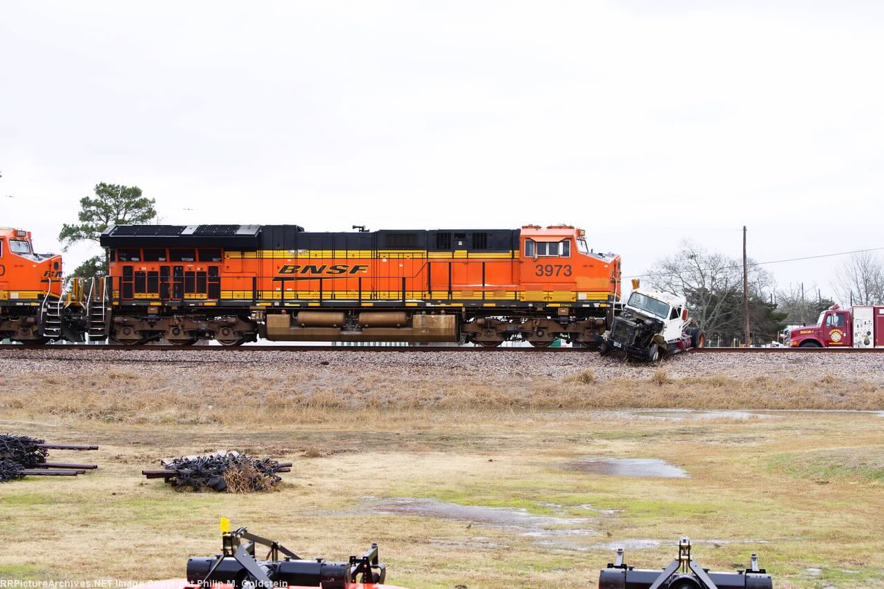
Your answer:
[[[882,30],[880,2],[2,0],[0,225],[58,250],[105,181],[170,224],[564,222],[624,275],[743,225],[758,261],[882,248]],[[825,295],[843,261],[766,268]]]

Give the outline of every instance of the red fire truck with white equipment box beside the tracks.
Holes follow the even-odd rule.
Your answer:
[[[793,329],[792,348],[884,348],[884,306],[842,309],[832,305],[817,325]]]

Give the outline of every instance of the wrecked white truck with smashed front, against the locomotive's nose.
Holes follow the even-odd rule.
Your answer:
[[[627,356],[655,362],[661,356],[703,348],[705,334],[689,327],[688,306],[681,296],[636,287],[611,330],[604,333],[602,356],[622,350]]]

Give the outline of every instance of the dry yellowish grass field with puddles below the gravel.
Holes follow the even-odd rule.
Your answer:
[[[302,556],[346,560],[377,541],[388,580],[412,587],[594,586],[616,547],[657,568],[680,535],[715,570],[758,552],[778,589],[884,587],[872,371],[685,376],[673,362],[610,378],[583,363],[507,386],[467,362],[446,378],[367,365],[335,386],[325,364],[19,364],[0,373],[0,431],[96,443],[53,456],[101,469],[0,486],[0,579],[182,577],[187,556],[217,553],[226,516]],[[216,449],[293,471],[248,495],[140,476]],[[624,458],[686,476],[599,462]]]

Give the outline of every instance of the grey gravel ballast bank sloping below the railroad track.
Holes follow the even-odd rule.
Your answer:
[[[590,369],[598,380],[652,378],[661,368],[671,379],[713,378],[754,379],[845,379],[884,384],[884,354],[837,353],[716,353],[682,354],[661,363],[634,363],[617,356],[602,358],[593,352],[562,354],[524,353],[495,350],[492,353],[395,351],[265,351],[261,348],[217,350],[0,350],[0,374],[88,373],[117,368],[140,374],[164,374],[175,371],[179,377],[235,376],[243,371],[268,371],[283,376],[303,374],[317,379],[343,379],[365,374],[395,374],[423,378],[476,375],[484,380],[566,379]]]

